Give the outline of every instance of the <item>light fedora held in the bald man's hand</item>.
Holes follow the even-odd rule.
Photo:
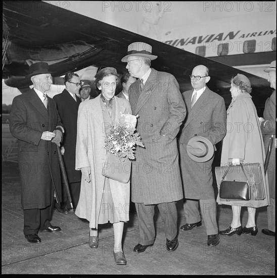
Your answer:
[[[189,157],[196,162],[206,162],[213,157],[213,144],[205,137],[192,137],[187,145]]]

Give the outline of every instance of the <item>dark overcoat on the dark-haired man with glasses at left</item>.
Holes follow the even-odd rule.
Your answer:
[[[75,170],[75,156],[77,116],[81,100],[76,96],[77,102],[75,102],[66,89],[61,94],[54,96],[53,99],[57,103],[57,109],[65,128],[62,146],[65,148],[63,160],[68,182],[78,182],[81,181],[81,172]]]

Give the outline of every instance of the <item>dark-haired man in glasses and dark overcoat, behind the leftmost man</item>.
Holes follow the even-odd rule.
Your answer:
[[[67,73],[64,77],[64,81],[65,89],[61,94],[54,96],[53,100],[57,103],[57,109],[65,129],[63,142],[61,144],[61,153],[63,154],[73,208],[76,208],[79,201],[81,187],[81,171],[75,170],[77,117],[78,107],[81,103],[81,100],[76,94],[78,94],[82,82],[80,82],[78,74],[74,72]],[[61,207],[58,207],[58,204],[55,204],[55,209],[58,212],[68,213],[67,206],[70,206],[64,182],[62,183],[62,188],[63,201]]]

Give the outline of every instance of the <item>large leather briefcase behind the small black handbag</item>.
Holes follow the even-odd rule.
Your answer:
[[[226,195],[225,192],[232,191],[232,188],[226,189],[225,187],[232,187],[232,184],[224,184],[226,181],[231,181],[233,183],[234,181],[249,183],[250,199],[248,200],[263,200],[265,198],[265,194],[264,194],[265,181],[263,179],[264,176],[262,175],[262,169],[260,163],[246,163],[240,165],[232,165],[231,163],[225,172],[224,172],[224,168],[225,167],[223,166],[215,167],[215,176],[216,176],[217,185],[219,187],[219,197],[221,199],[245,200],[245,199],[241,199],[242,196],[236,196],[240,199],[231,198],[231,196],[234,197],[233,196],[234,194],[230,195],[229,196],[230,198],[227,198],[229,194],[227,193],[228,195]],[[223,185],[221,186],[222,182]],[[222,188],[221,195],[220,195],[220,188]],[[238,191],[238,189],[236,189],[236,191]],[[244,197],[246,197],[246,195],[244,195]]]

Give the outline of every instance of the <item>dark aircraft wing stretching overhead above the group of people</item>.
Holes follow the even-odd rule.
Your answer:
[[[47,2],[3,1],[3,32],[7,41],[3,78],[21,91],[30,85],[24,79],[29,65],[37,61],[48,62],[54,77],[89,66],[109,66],[125,73],[126,63],[121,59],[134,41],[152,45],[153,54],[158,56],[152,67],[173,74],[181,92],[191,88],[189,75],[200,64],[209,68],[208,86],[225,99],[226,105],[231,101],[230,79],[237,73],[250,79],[256,107],[262,108],[272,91],[261,77]]]

